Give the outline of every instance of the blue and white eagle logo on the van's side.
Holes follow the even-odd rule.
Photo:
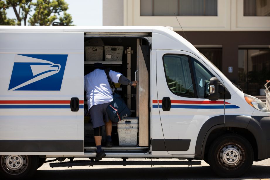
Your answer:
[[[59,91],[67,54],[16,54],[9,91]]]

